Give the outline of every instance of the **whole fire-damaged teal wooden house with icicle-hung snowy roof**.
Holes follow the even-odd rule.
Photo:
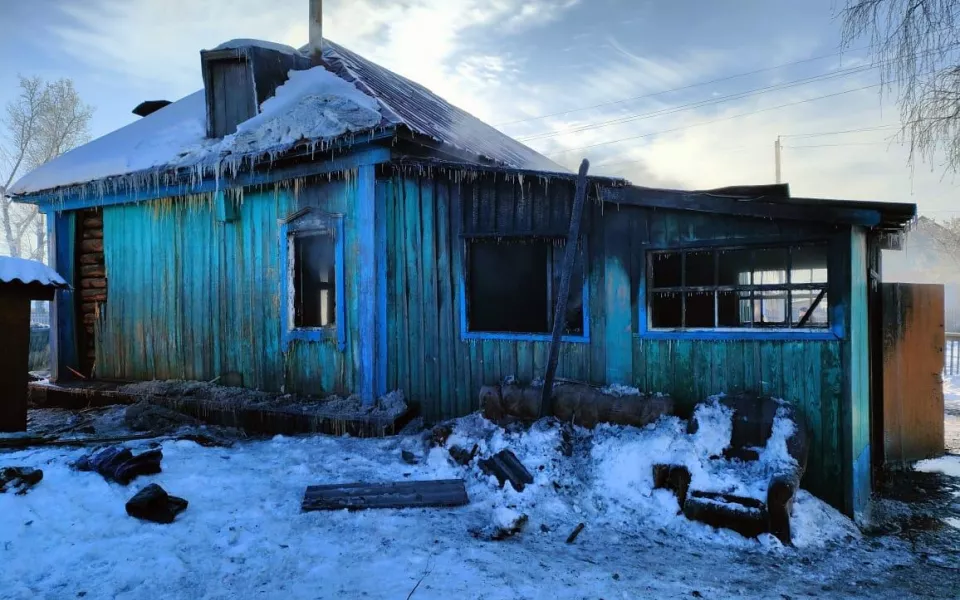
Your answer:
[[[72,284],[55,377],[399,388],[429,420],[543,375],[575,175],[332,42],[240,40],[205,87],[21,179]],[[289,75],[288,75],[289,73]],[[804,484],[871,486],[870,315],[912,204],[591,178],[558,376],[801,408]]]

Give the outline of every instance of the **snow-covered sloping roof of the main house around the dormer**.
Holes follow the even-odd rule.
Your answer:
[[[232,40],[218,49],[259,46],[301,52],[257,40]],[[520,142],[443,100],[430,90],[333,42],[324,67],[292,71],[261,113],[223,139],[206,137],[203,90],[80,146],[31,171],[9,190],[26,195],[123,175],[156,175],[191,167],[205,173],[220,164],[276,154],[296,143],[329,144],[377,128],[406,127],[477,162],[566,172]],[[319,117],[319,118],[318,118]]]

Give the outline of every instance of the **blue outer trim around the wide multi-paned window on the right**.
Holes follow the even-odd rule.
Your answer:
[[[642,340],[701,340],[701,341],[837,341],[843,336],[843,307],[839,303],[830,304],[830,326],[821,329],[748,329],[748,328],[709,328],[709,329],[651,329],[647,316],[647,257],[651,252],[664,250],[696,250],[706,248],[717,250],[721,248],[756,247],[766,248],[777,245],[807,245],[822,244],[828,240],[822,238],[806,238],[775,242],[765,240],[757,243],[755,240],[729,240],[726,243],[692,243],[651,245],[644,248],[643,260],[640,261],[640,281],[637,290],[637,333],[633,337]],[[837,272],[833,260],[828,258],[827,286],[829,290],[836,289],[833,281]],[[831,294],[833,295],[833,294]]]

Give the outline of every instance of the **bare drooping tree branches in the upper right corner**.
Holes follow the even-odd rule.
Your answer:
[[[883,93],[900,106],[910,163],[960,170],[960,0],[846,0],[843,45],[868,38]]]

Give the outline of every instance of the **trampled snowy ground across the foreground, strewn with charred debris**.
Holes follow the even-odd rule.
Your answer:
[[[0,495],[0,597],[403,599],[415,587],[412,598],[957,597],[955,547],[862,536],[805,492],[797,548],[677,517],[676,500],[649,489],[649,454],[695,460],[717,430],[693,439],[675,426],[580,432],[566,458],[556,427],[520,434],[460,420],[446,446],[511,448],[535,476],[522,494],[499,489],[475,463],[455,466],[420,435],[277,437],[229,449],[168,441],[163,473],[126,488],[71,470],[82,449],[0,454],[0,466],[45,473],[25,496]],[[403,462],[401,450],[420,464]],[[956,466],[947,458],[923,468]],[[466,480],[468,506],[300,512],[310,484],[452,477]],[[151,482],[190,502],[171,525],[124,512]],[[470,533],[521,513],[529,522],[515,538]],[[565,544],[579,522],[586,528]]]

